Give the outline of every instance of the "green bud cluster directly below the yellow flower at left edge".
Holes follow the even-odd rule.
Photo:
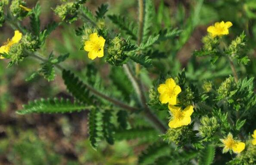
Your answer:
[[[16,43],[12,45],[8,54],[10,55],[10,59],[14,64],[17,64],[26,57],[26,55],[24,54],[24,47],[22,43]]]

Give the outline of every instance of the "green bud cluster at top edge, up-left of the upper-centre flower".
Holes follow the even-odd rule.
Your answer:
[[[56,6],[54,12],[62,21],[66,20],[71,23],[76,20],[76,16],[78,14],[79,3],[77,2],[67,2],[61,5]]]

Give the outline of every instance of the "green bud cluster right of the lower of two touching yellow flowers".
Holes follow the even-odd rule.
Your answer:
[[[209,118],[208,116],[203,116],[200,119],[200,122],[201,122],[201,125],[199,128],[199,132],[200,132],[201,136],[206,141],[208,141],[218,131],[220,125],[214,116],[211,118]]]

